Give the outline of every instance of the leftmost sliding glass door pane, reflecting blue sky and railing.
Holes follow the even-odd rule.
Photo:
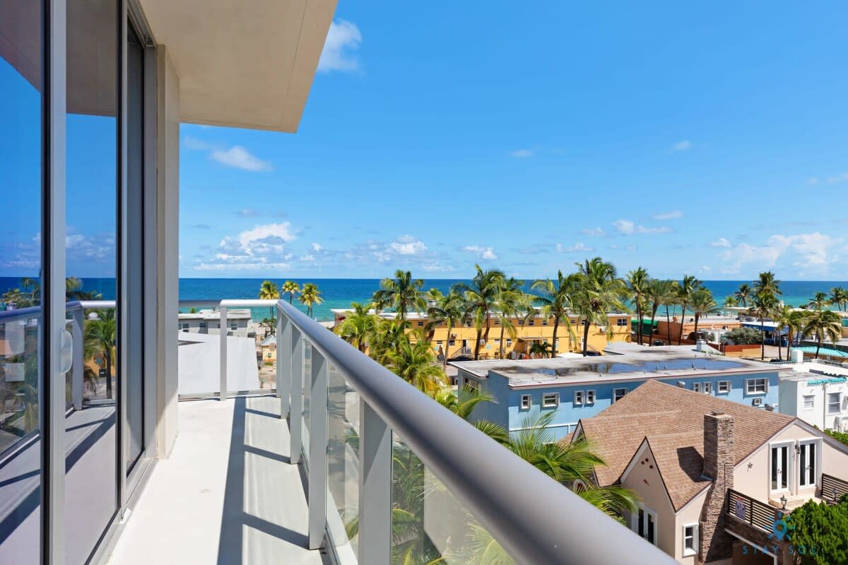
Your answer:
[[[0,3],[0,563],[40,560],[42,6]]]

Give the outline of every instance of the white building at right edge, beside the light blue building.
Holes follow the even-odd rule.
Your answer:
[[[820,429],[848,432],[848,368],[795,363],[791,374],[781,375],[778,407]]]

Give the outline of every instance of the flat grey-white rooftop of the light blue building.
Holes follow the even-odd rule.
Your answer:
[[[490,373],[499,374],[510,380],[510,387],[787,370],[748,359],[696,352],[694,346],[643,347],[641,352],[600,357],[503,359],[449,364],[481,378],[487,378]]]

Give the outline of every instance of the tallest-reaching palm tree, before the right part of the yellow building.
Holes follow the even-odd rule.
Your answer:
[[[600,257],[586,259],[577,263],[577,291],[574,294],[572,309],[577,313],[583,325],[583,357],[589,354],[589,324],[606,326],[611,335],[609,316],[612,309],[628,312],[624,299],[628,288],[616,274],[616,267],[606,263]]]

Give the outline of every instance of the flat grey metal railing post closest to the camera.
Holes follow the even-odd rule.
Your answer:
[[[392,555],[392,429],[360,398],[358,562],[388,565]]]

